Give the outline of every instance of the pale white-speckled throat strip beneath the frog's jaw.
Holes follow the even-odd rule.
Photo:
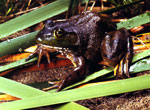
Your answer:
[[[55,50],[55,51],[59,52],[61,55],[68,58],[72,62],[74,67],[77,67],[77,63],[75,62],[75,55],[69,48],[54,47],[54,46],[43,45],[43,44],[42,44],[42,46],[45,48],[49,48],[51,50]]]

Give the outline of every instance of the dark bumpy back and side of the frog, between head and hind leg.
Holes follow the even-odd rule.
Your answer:
[[[84,12],[70,20],[74,25],[73,30],[80,38],[80,49],[84,57],[91,62],[100,61],[100,46],[104,33],[116,29],[116,25],[112,24],[108,17],[92,12]]]

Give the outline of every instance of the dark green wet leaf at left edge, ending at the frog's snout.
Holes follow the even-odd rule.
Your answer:
[[[24,50],[25,48],[35,45],[35,36],[39,31],[35,31],[29,34],[25,34],[23,36],[7,40],[0,43],[0,57],[20,52],[20,50]]]

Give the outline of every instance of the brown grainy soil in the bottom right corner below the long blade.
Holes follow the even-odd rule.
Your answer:
[[[90,110],[149,110],[150,90],[78,101]]]

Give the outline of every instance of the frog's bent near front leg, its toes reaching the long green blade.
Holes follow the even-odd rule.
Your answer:
[[[72,83],[79,80],[82,76],[86,74],[86,65],[85,60],[82,56],[77,56],[72,52],[64,52],[59,51],[62,55],[66,56],[68,59],[71,60],[72,64],[74,65],[74,70],[71,73],[68,73],[64,78],[58,82],[51,82],[53,86],[44,88],[43,90],[50,90],[53,88],[57,88],[57,92],[62,90],[63,88],[71,85]]]

